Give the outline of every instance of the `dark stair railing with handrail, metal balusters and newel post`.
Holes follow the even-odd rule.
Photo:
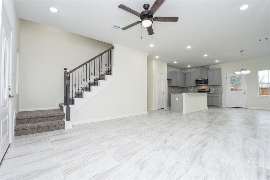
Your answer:
[[[100,70],[101,70],[101,75],[100,76],[107,75],[106,67],[108,65],[108,71],[109,71],[109,53],[111,54],[111,50],[113,50],[113,49],[114,49],[114,46],[112,46],[109,49],[101,52],[99,55],[96,55],[94,58],[91,58],[90,60],[84,62],[83,64],[79,65],[78,67],[75,67],[74,69],[70,70],[69,72],[66,71],[67,70],[66,67],[64,68],[64,105],[66,106],[66,121],[70,121],[70,107],[69,107],[69,105],[73,104],[73,90],[72,90],[72,92],[70,92],[71,88],[73,88],[73,72],[75,74],[75,85],[74,86],[76,87],[76,70],[78,72],[79,69],[80,69],[81,72],[82,72],[82,67],[83,67],[83,76],[82,76],[82,74],[80,74],[81,75],[80,79],[81,79],[81,82],[83,80],[83,89],[84,89],[84,81],[85,81],[84,67],[85,67],[85,65],[86,65],[86,81],[87,81],[87,64],[88,64],[88,68],[89,68],[88,73],[89,73],[89,80],[90,80],[90,62],[96,59],[96,73],[97,74],[95,74],[95,61],[94,61],[94,74],[92,72],[92,68],[93,68],[92,63],[93,62],[91,62],[91,80],[92,80],[92,83],[93,83],[93,75],[94,75],[94,77],[96,75],[98,75],[98,73],[100,75]],[[107,52],[108,52],[108,59],[106,59],[106,60],[108,60],[108,64],[107,64],[107,62],[105,60],[105,62],[106,62],[106,67],[105,67],[104,54],[106,54]],[[102,68],[102,55],[103,55],[103,68]],[[100,56],[101,56],[101,69],[100,69]],[[98,61],[99,66],[97,66],[97,58],[99,58],[99,61]],[[111,63],[110,68],[112,70],[112,59],[111,58],[112,57],[110,55],[110,63]],[[97,69],[97,67],[99,67],[99,69]],[[104,71],[102,71],[102,69],[104,69]],[[111,72],[111,70],[109,72]],[[99,71],[99,72],[97,72],[97,71]],[[82,79],[82,77],[83,77],[83,79]],[[78,80],[78,78],[79,78],[79,74],[77,76],[77,80]],[[71,81],[72,81],[72,84],[70,85]],[[78,81],[77,85],[79,85],[79,81]],[[82,86],[82,83],[81,83],[81,86]],[[90,84],[89,84],[89,86],[90,86]],[[74,87],[74,90],[75,90],[75,97],[76,97],[77,92],[76,92],[75,87]],[[77,88],[79,88],[79,87],[77,87]],[[86,89],[87,89],[87,84],[86,84]],[[70,97],[70,93],[72,93],[72,98]],[[79,92],[78,92],[78,95],[79,95]],[[70,103],[70,101],[71,101],[70,99],[72,99],[72,103]]]

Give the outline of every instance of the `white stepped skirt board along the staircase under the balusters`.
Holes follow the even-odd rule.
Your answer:
[[[73,120],[73,113],[82,107],[85,103],[90,101],[95,95],[97,95],[100,91],[106,88],[107,85],[112,83],[115,80],[115,76],[105,75],[105,80],[98,80],[96,86],[90,86],[91,91],[83,91],[82,98],[74,98],[74,104],[70,105],[70,121]],[[65,113],[66,119],[66,106],[63,106],[63,113]]]

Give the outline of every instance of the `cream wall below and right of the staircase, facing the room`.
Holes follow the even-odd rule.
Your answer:
[[[74,113],[73,123],[147,113],[147,55],[114,44],[115,80]]]

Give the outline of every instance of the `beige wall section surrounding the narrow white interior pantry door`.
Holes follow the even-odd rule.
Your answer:
[[[154,59],[147,60],[147,104],[151,110],[157,109],[157,72],[164,73],[165,108],[167,108],[167,63]],[[148,102],[149,101],[149,102]]]

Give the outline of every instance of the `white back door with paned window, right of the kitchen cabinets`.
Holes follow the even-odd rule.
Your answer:
[[[245,74],[227,74],[227,107],[247,107]]]

